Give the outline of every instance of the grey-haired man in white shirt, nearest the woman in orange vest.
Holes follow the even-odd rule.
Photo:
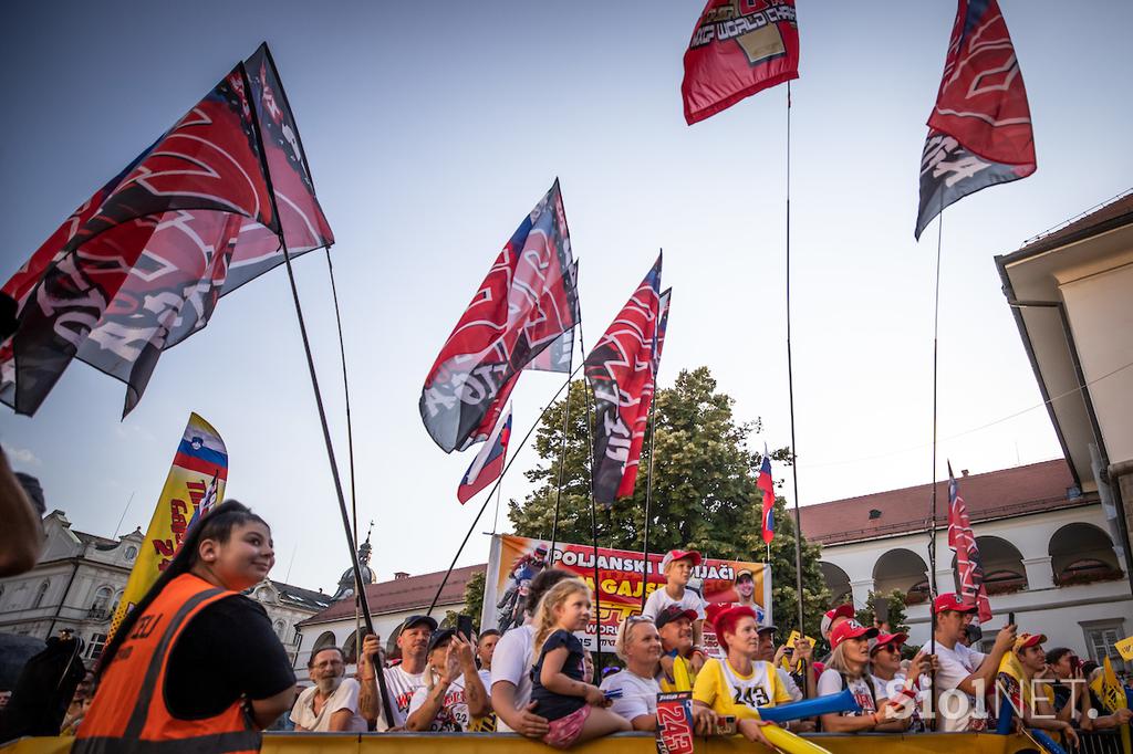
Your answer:
[[[325,646],[307,660],[315,685],[304,689],[291,709],[295,729],[320,732],[365,732],[358,714],[358,682],[346,678],[346,657],[338,646]]]

